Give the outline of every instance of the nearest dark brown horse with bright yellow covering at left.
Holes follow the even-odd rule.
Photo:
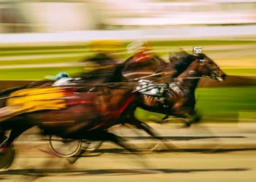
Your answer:
[[[1,113],[0,157],[12,147],[15,138],[35,126],[47,135],[73,140],[112,141],[128,151],[138,151],[127,145],[124,138],[108,132],[108,128],[113,125],[129,123],[136,108],[138,92],[132,93],[135,84],[125,82],[121,76],[122,68],[117,66],[110,83],[104,85],[78,84],[69,87],[25,88],[9,93],[5,91],[0,100],[1,108],[7,109],[6,116],[6,113]],[[15,109],[13,107],[16,106],[18,111],[13,115],[10,112],[12,110],[8,109]],[[147,124],[132,124],[146,130],[154,138],[161,139]],[[11,130],[9,138],[4,135],[7,130]]]

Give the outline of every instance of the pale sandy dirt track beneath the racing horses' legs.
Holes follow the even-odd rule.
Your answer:
[[[252,141],[255,143],[255,124],[204,124],[189,129],[160,124],[151,124],[151,127],[176,146],[183,143],[183,146],[189,148],[192,145],[195,149],[192,143],[197,141],[200,149],[216,143],[218,145],[214,145],[218,149],[226,150],[208,154],[200,150],[165,150],[136,157],[112,143],[104,143],[98,151],[84,155],[74,165],[69,165],[67,159],[49,152],[48,141],[42,143],[36,140],[36,135],[23,135],[25,140],[19,138],[20,141],[15,141],[15,160],[10,170],[0,172],[0,181],[255,182],[255,147],[228,147],[232,143],[238,143],[238,146]],[[117,135],[137,136],[139,139],[129,138],[136,146],[138,142],[145,144],[149,141],[137,132],[117,129],[113,131]],[[33,132],[28,130],[26,133]]]

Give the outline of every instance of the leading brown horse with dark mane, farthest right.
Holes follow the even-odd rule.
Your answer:
[[[164,95],[152,97],[142,95],[142,100],[138,106],[146,111],[166,114],[166,116],[176,116],[187,119],[186,126],[200,121],[200,115],[195,111],[195,89],[202,76],[209,76],[211,79],[223,81],[226,74],[214,63],[214,60],[204,54],[187,56],[192,63],[180,74],[174,82],[164,88]],[[165,117],[164,119],[166,119]]]

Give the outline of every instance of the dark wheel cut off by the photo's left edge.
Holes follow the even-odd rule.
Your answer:
[[[7,151],[0,153],[0,171],[8,170],[15,157],[14,146],[11,145]]]

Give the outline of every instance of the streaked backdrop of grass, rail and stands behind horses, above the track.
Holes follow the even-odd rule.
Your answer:
[[[94,41],[124,61],[126,45],[146,39],[166,59],[175,47],[202,46],[231,76],[197,89],[206,122],[255,119],[255,0],[1,0],[0,33],[2,89],[83,70]]]

